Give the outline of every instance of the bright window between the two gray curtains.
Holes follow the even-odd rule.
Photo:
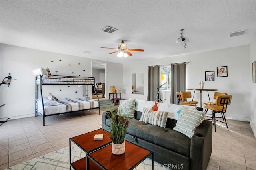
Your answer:
[[[162,65],[161,66],[161,88],[162,90],[170,90],[171,89],[171,66],[170,65]]]

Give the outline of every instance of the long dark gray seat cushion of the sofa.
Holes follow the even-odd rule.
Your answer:
[[[190,156],[190,138],[172,129],[150,125],[136,119],[130,119],[126,133],[184,156]]]

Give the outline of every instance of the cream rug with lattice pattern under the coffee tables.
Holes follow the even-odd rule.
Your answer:
[[[86,156],[86,154],[76,145],[71,146],[72,162]],[[51,152],[49,154],[34,158],[21,164],[7,168],[6,170],[64,170],[69,169],[69,147]],[[147,158],[139,164],[135,170],[151,170],[152,160]],[[155,170],[166,170],[167,168],[154,162]]]

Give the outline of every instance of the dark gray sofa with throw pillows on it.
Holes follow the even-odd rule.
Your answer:
[[[117,111],[117,110],[115,110]],[[102,127],[109,128],[106,111]],[[154,160],[171,169],[206,170],[212,153],[212,122],[204,120],[192,138],[173,130],[176,120],[167,119],[166,128],[139,121],[142,112],[135,111],[129,120],[125,140],[154,152]]]

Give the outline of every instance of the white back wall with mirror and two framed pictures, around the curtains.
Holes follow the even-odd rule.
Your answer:
[[[205,80],[205,71],[215,71],[215,80],[206,81],[204,88],[218,89],[220,92],[232,95],[232,103],[226,113],[228,119],[250,120],[250,45],[124,64],[125,97],[146,100],[148,95],[148,66],[180,62],[189,62],[187,65],[186,88],[198,88],[199,81]],[[219,66],[228,66],[228,77],[217,77],[216,67]],[[132,73],[145,73],[144,95],[131,93]],[[213,96],[213,93],[214,91],[209,91],[210,96]],[[194,100],[200,100],[198,91],[195,93]],[[208,101],[206,91],[203,92],[202,101],[202,103]]]

